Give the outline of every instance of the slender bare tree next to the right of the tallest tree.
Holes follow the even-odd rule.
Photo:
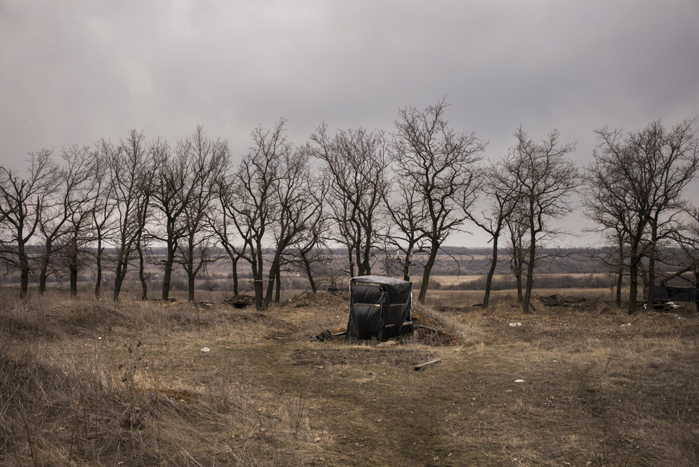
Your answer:
[[[512,173],[503,170],[500,164],[491,164],[484,172],[484,184],[482,192],[490,205],[487,210],[482,210],[480,215],[475,215],[471,210],[466,211],[466,216],[478,227],[487,232],[490,236],[489,242],[493,243],[490,258],[490,268],[485,281],[485,293],[483,295],[483,306],[487,307],[490,301],[490,291],[493,285],[493,275],[498,265],[498,242],[503,228],[507,226],[507,218],[512,215],[512,211],[519,203],[519,187]],[[513,224],[512,227],[516,229]],[[515,243],[521,240],[514,239]],[[515,258],[514,256],[512,257]],[[515,259],[517,261],[519,258]],[[521,286],[521,263],[517,264],[519,271],[519,284]],[[519,287],[521,294],[521,287]]]

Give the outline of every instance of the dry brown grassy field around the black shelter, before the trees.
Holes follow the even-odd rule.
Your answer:
[[[698,315],[554,293],[603,297],[522,315],[512,292],[484,310],[482,292],[433,291],[416,312],[449,339],[379,346],[309,338],[345,327],[343,294],[256,312],[222,292],[1,291],[0,464],[696,466]]]

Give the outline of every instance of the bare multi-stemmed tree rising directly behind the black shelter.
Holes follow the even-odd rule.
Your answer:
[[[307,150],[324,162],[326,203],[337,229],[333,240],[347,249],[349,275],[369,275],[379,237],[377,217],[389,189],[384,132],[359,128],[329,136],[323,124],[310,138],[315,145]]]

